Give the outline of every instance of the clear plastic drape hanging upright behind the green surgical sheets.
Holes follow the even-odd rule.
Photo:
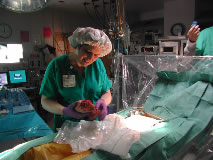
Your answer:
[[[113,61],[112,104],[116,111],[143,106],[158,79],[156,72],[200,71],[202,68],[196,67],[196,64],[205,59],[213,60],[213,57],[117,55]]]

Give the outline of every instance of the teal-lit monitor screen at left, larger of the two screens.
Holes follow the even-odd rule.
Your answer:
[[[24,83],[27,82],[25,70],[9,71],[10,83]]]

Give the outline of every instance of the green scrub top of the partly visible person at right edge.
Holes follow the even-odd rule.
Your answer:
[[[200,32],[196,41],[196,55],[213,56],[213,27]]]

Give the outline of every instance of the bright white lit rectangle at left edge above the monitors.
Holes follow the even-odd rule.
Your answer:
[[[23,58],[22,44],[0,44],[0,63],[17,63]]]

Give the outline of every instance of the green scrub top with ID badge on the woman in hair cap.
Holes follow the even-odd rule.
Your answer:
[[[100,58],[85,67],[84,74],[85,76],[82,76],[72,66],[69,54],[56,57],[46,69],[40,94],[57,100],[63,106],[79,100],[91,100],[95,105],[96,101],[112,87],[112,84]],[[79,121],[72,117],[55,115],[55,129],[60,128],[67,119]]]

